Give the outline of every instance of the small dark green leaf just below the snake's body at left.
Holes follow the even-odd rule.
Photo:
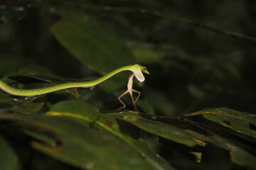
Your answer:
[[[16,103],[10,110],[18,113],[33,114],[43,108],[43,102],[40,103]]]

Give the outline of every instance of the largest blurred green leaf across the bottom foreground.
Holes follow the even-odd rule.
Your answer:
[[[14,121],[24,127],[52,132],[58,137],[61,145],[49,147],[32,142],[32,146],[73,166],[82,169],[152,169],[129,145],[108,132],[88,128],[85,121],[78,123],[49,115],[1,114],[0,118]]]

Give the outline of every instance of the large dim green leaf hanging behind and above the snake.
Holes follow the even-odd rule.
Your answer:
[[[63,18],[52,27],[55,38],[80,62],[106,74],[134,57],[122,40],[97,19],[78,10],[57,10]]]

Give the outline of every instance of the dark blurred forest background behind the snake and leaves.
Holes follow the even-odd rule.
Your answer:
[[[1,3],[1,77],[31,65],[44,67],[65,78],[100,76],[70,55],[50,33],[50,27],[60,16],[50,13],[48,7],[73,6],[82,8],[110,28],[129,50],[137,49],[137,61],[151,73],[146,76],[144,86],[137,89],[142,91],[142,98],[149,101],[154,109],[152,113],[176,116],[208,107],[255,113],[255,40],[233,38],[181,21],[186,18],[220,32],[235,32],[253,38],[256,37],[255,1]],[[95,6],[113,8],[106,11]],[[114,7],[122,8],[115,10]],[[137,10],[140,8],[159,11],[164,16],[143,10],[140,13]],[[113,109],[119,106],[115,96],[111,96],[114,93],[119,92],[105,94],[99,89],[92,94],[95,102],[89,101],[97,103],[102,110]],[[97,96],[101,96],[102,101],[98,101]]]

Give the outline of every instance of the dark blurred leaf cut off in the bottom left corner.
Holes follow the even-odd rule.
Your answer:
[[[18,170],[20,164],[14,149],[9,145],[4,137],[0,135],[0,169],[3,170]]]

